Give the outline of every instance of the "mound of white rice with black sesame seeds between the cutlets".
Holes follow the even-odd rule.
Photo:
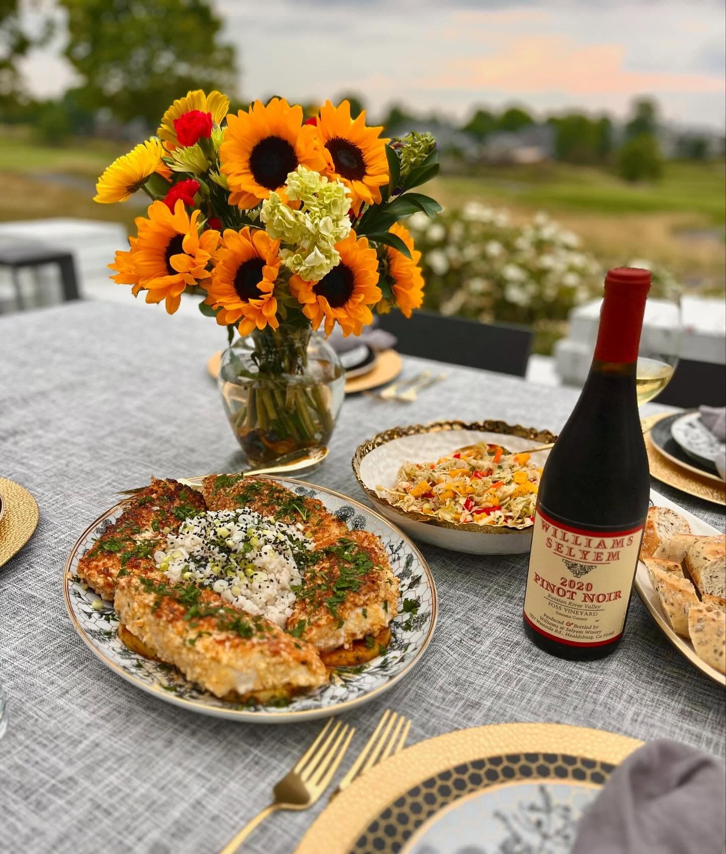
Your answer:
[[[154,559],[169,581],[210,588],[284,628],[296,599],[291,588],[302,581],[294,555],[313,548],[301,529],[245,508],[209,510],[168,534]]]

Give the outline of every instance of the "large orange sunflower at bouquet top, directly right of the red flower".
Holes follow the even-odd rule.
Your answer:
[[[288,173],[301,163],[321,172],[325,155],[315,127],[302,124],[302,107],[272,98],[267,106],[255,101],[249,112],[227,116],[220,163],[231,190],[230,204],[248,210],[268,199],[272,190],[283,195]]]

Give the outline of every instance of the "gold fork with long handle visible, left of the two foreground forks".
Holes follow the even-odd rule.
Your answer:
[[[331,728],[333,718],[325,724],[313,744],[307,748],[290,773],[272,789],[274,801],[258,813],[251,822],[231,839],[220,854],[234,854],[258,824],[277,810],[307,810],[330,786],[333,775],[343,761],[355,729],[338,721]],[[326,737],[327,735],[327,737]]]

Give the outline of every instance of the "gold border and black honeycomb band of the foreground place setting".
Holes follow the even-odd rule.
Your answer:
[[[641,744],[558,723],[501,723],[439,735],[390,757],[344,789],[296,854],[398,851],[430,815],[471,791],[560,774],[601,786]]]

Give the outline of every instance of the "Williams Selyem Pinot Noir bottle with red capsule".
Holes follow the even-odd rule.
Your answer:
[[[607,273],[594,360],[542,472],[524,632],[560,658],[603,658],[623,636],[650,494],[635,392],[650,284]]]

